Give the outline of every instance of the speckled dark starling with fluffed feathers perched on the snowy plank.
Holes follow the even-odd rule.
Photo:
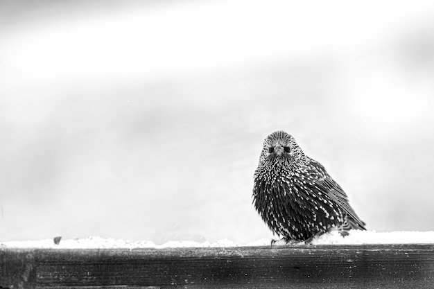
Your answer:
[[[342,236],[349,229],[365,230],[338,183],[284,131],[263,141],[254,172],[253,204],[273,234],[286,243],[309,242],[333,229]]]

